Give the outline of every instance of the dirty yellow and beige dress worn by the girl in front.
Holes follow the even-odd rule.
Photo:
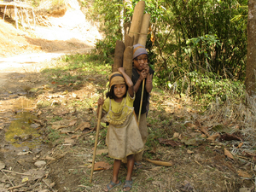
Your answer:
[[[128,94],[127,94],[128,95]],[[127,97],[127,96],[126,96]],[[109,100],[109,110],[106,115],[109,126],[106,137],[109,157],[116,160],[125,160],[130,154],[143,151],[144,144],[133,113],[133,107],[125,104],[118,113],[114,113]]]

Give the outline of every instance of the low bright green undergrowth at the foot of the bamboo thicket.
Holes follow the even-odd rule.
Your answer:
[[[227,100],[238,102],[244,99],[244,84],[235,79],[224,79],[212,72],[184,73],[183,77],[155,79],[157,84],[166,86],[171,93],[191,96],[195,101],[207,105],[208,102],[223,103]]]

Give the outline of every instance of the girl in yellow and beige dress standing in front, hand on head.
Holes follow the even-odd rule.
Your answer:
[[[131,190],[131,173],[134,166],[134,154],[143,151],[143,140],[133,113],[135,94],[133,83],[125,73],[125,68],[119,67],[119,72],[112,73],[109,77],[110,91],[104,101],[98,100],[98,108],[102,105],[102,113],[107,113],[109,122],[106,143],[108,155],[114,159],[113,178],[103,189],[109,191],[121,184],[118,178],[121,160],[127,158],[127,176],[124,191]],[[98,111],[97,111],[98,113]]]

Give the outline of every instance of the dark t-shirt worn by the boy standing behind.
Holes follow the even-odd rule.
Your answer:
[[[149,67],[149,73],[150,74],[154,74],[154,70]],[[132,76],[131,76],[131,80],[133,82],[133,84],[135,85],[137,82],[137,79],[140,78],[140,74],[137,73],[137,69],[135,67],[132,68]],[[145,85],[147,84],[147,79],[145,79]],[[143,90],[143,82],[140,84],[139,89],[137,90],[136,93],[136,97],[135,97],[135,101],[133,102],[133,107],[134,107],[134,111],[135,113],[139,113],[140,110],[140,104],[141,104],[141,97],[142,97],[142,90]],[[142,107],[142,114],[147,112],[147,105],[149,104],[149,93],[147,92],[147,90],[144,87],[144,92],[143,92],[143,107]]]

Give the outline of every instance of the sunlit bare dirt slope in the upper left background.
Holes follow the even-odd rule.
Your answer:
[[[102,36],[96,27],[86,20],[75,2],[73,1],[75,5],[67,3],[67,7],[50,15],[38,10],[37,25],[32,26],[32,29],[20,26],[20,29],[16,30],[15,21],[10,19],[9,15],[5,15],[3,20],[3,13],[0,12],[0,57],[93,48],[96,39]]]

